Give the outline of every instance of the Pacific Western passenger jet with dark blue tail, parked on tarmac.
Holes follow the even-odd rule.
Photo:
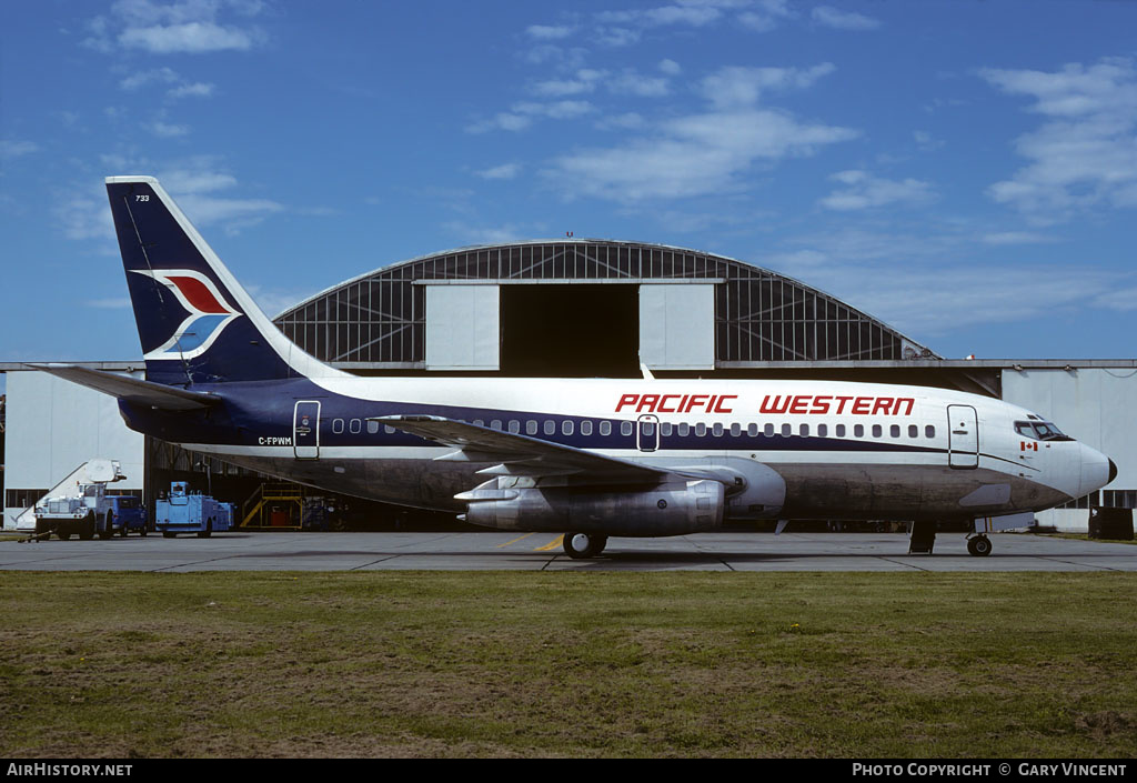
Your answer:
[[[146,380],[39,369],[114,395],[126,425],[299,484],[563,533],[724,520],[972,522],[985,535],[1109,484],[1117,465],[1051,421],[940,388],[822,380],[365,378],[291,343],[159,182],[110,176]],[[993,526],[994,522],[994,526]],[[1020,522],[1021,524],[1021,522]],[[932,533],[933,535],[933,533]]]

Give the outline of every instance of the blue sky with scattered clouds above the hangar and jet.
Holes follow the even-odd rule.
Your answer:
[[[1131,357],[1137,2],[0,5],[0,360],[133,358],[102,179],[269,315],[472,244],[720,253],[948,357]]]

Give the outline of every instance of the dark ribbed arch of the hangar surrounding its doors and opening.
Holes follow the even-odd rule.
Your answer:
[[[606,239],[532,240],[433,253],[333,286],[274,321],[323,361],[423,368],[425,288],[445,280],[501,286],[713,282],[715,364],[721,368],[937,357],[880,320],[778,272],[700,250]]]

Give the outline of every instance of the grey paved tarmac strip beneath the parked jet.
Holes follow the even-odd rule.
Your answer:
[[[989,557],[941,533],[932,554],[906,534],[723,531],[612,538],[599,558],[572,560],[550,533],[218,533],[210,538],[0,542],[0,570],[39,571],[1137,571],[1137,546],[996,534]]]

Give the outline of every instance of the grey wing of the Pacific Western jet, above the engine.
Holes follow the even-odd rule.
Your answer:
[[[533,479],[565,476],[572,477],[573,483],[596,485],[654,484],[673,475],[637,462],[441,417],[376,417],[373,421],[455,447],[456,451],[439,460],[496,463],[478,471],[485,476]]]

